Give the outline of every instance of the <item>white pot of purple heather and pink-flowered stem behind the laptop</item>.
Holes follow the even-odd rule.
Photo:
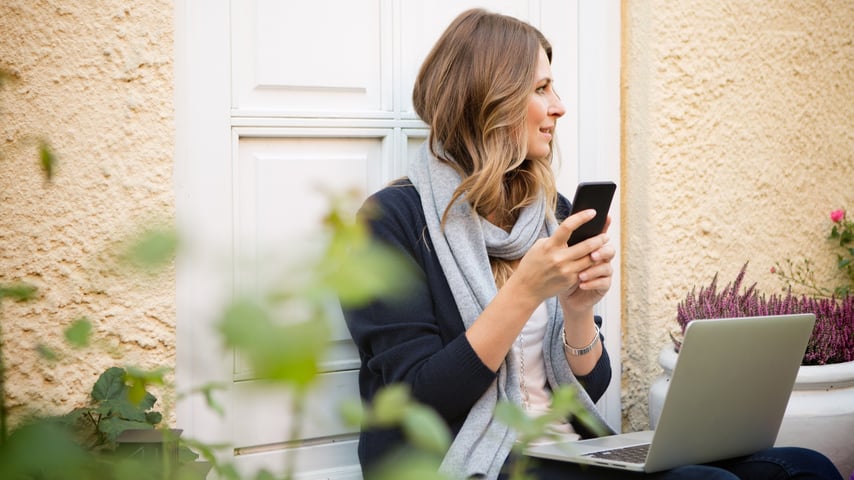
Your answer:
[[[661,350],[663,373],[650,387],[649,415],[652,427],[673,367],[678,359],[681,334],[687,325],[705,318],[778,315],[811,312],[816,324],[810,337],[780,433],[778,445],[800,445],[819,450],[841,472],[854,470],[854,222],[843,210],[831,213],[828,239],[837,244],[836,266],[846,278],[833,288],[815,280],[811,263],[780,263],[771,273],[782,278],[782,293],[766,295],[756,284],[742,288],[747,264],[736,278],[718,289],[718,276],[691,292],[677,305],[676,332]],[[798,287],[805,293],[794,293]],[[746,392],[749,394],[749,392]]]

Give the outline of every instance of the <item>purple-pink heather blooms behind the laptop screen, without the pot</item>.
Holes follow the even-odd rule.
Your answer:
[[[815,327],[807,344],[803,365],[824,365],[854,361],[854,296],[816,297],[784,294],[765,295],[756,284],[742,291],[747,263],[735,280],[718,290],[718,275],[708,286],[692,289],[677,306],[676,320],[681,332],[693,320],[760,315],[814,313]],[[673,338],[677,349],[680,341]]]

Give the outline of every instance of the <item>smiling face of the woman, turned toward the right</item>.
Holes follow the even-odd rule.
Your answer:
[[[528,97],[528,153],[526,158],[545,158],[551,152],[557,119],[566,113],[554,91],[552,67],[546,51],[540,48],[534,85]]]

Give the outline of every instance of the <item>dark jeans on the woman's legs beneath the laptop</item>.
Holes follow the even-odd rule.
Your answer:
[[[528,478],[537,480],[842,480],[830,460],[806,448],[778,447],[747,457],[704,465],[687,465],[646,474],[591,467],[553,460],[531,459]],[[507,480],[501,475],[500,480]]]

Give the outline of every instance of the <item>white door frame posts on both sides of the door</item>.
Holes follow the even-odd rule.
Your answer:
[[[177,260],[176,389],[179,395],[211,383],[231,381],[233,358],[221,355],[221,340],[213,322],[218,305],[233,285],[229,272],[211,262],[231,248],[231,225],[222,212],[231,212],[234,155],[231,111],[230,9],[228,1],[176,0],[175,8],[175,166],[176,219],[185,240],[193,245]],[[620,176],[620,22],[619,0],[578,1],[578,180]],[[571,106],[570,106],[571,108]],[[401,148],[405,151],[405,148]],[[619,239],[620,202],[612,207],[611,238],[617,244],[611,293],[597,306],[606,318],[604,331],[615,380],[600,400],[612,426],[622,423],[621,279]],[[225,216],[226,218],[228,216]],[[225,274],[223,276],[223,274]],[[226,412],[228,395],[216,396]],[[202,395],[182,396],[176,405],[177,423],[187,436],[227,443],[229,419],[222,418]]]

